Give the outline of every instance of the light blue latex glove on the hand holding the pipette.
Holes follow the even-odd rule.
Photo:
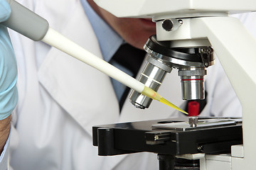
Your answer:
[[[0,0],[0,22],[6,21],[11,8],[5,0]],[[14,111],[18,101],[16,89],[17,66],[14,50],[7,28],[0,23],[0,120]]]

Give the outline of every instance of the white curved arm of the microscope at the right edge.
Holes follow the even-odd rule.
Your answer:
[[[256,40],[237,18],[190,19],[191,38],[208,38],[242,105],[243,157],[233,157],[233,169],[255,164]]]

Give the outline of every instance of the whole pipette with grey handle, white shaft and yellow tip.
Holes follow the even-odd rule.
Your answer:
[[[160,96],[156,91],[150,89],[149,87],[142,84],[142,82],[130,77],[128,74],[122,72],[116,67],[112,66],[108,62],[100,59],[93,55],[92,53],[85,50],[80,45],[76,44],[72,40],[65,38],[64,35],[61,35],[57,31],[49,27],[48,21],[38,16],[33,11],[30,11],[28,8],[18,4],[14,0],[7,0],[11,6],[11,16],[3,24],[12,30],[15,30],[18,33],[30,38],[35,41],[43,41],[48,45],[57,48],[70,56],[75,57],[76,59],[89,64],[90,66],[98,69],[100,72],[107,74],[109,77],[116,79],[125,86],[138,91],[139,93],[148,96],[156,101],[160,101],[172,108],[175,108],[182,113],[186,113],[178,106],[175,106],[171,102],[167,101],[165,98]]]

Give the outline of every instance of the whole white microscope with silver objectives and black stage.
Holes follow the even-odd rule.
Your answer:
[[[191,117],[95,126],[93,145],[99,155],[154,152],[159,169],[252,169],[256,40],[229,14],[256,11],[255,0],[95,2],[117,17],[156,22],[156,35],[144,45],[148,58],[139,77],[143,84],[157,91],[166,74],[178,69],[183,99],[203,99],[204,76],[214,64],[214,51],[242,105],[242,118]],[[137,108],[149,108],[151,103],[136,91],[129,98]]]

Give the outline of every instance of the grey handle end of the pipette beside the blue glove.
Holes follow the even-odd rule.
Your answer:
[[[6,0],[11,6],[11,16],[2,24],[31,40],[42,40],[49,28],[48,21],[14,0]]]

